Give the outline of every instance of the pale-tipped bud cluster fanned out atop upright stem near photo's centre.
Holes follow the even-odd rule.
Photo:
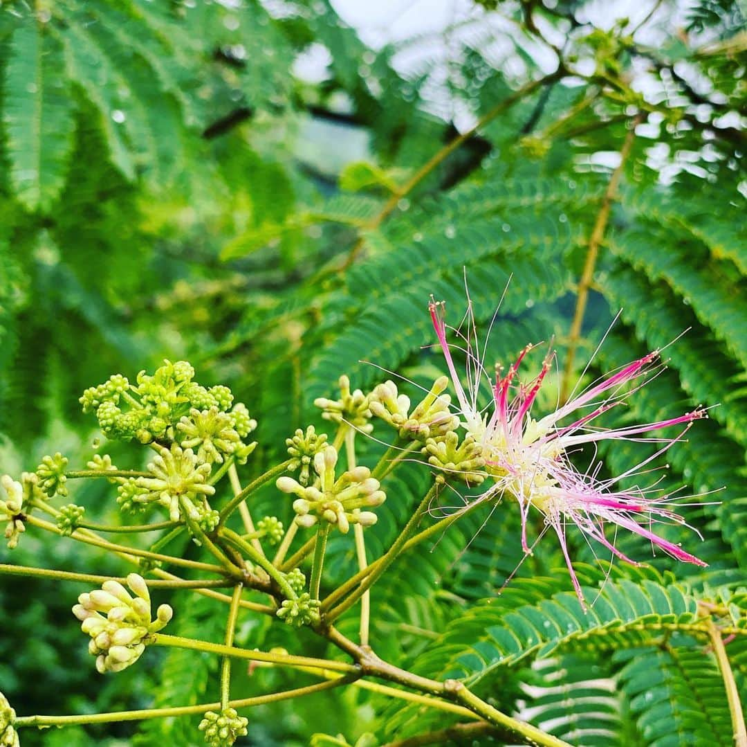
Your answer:
[[[371,477],[368,467],[355,467],[335,479],[336,464],[337,449],[326,446],[314,457],[314,471],[318,476],[314,485],[305,487],[292,477],[277,479],[279,490],[298,496],[293,510],[299,526],[326,521],[346,534],[350,524],[371,526],[376,523],[376,514],[361,511],[361,508],[373,508],[385,501],[379,481]]]

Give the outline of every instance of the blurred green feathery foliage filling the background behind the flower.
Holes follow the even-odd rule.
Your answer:
[[[247,403],[259,422],[259,446],[243,472],[249,479],[284,458],[296,428],[321,427],[311,403],[331,394],[341,373],[364,389],[387,378],[379,367],[430,385],[439,362],[421,347],[433,342],[427,299],[445,299],[456,323],[466,274],[483,324],[508,284],[488,358],[505,362],[528,341],[554,335],[561,361],[569,346],[579,350],[572,381],[689,329],[666,349],[669,370],[632,400],[632,415],[651,420],[664,408],[721,403],[672,452],[668,483],[697,493],[725,486],[718,502],[684,508],[704,535],[695,550],[710,568],[677,575],[694,574],[696,589],[743,580],[745,19],[725,0],[652,1],[636,19],[595,25],[594,5],[465,3],[438,33],[374,48],[325,0],[0,2],[0,472],[33,470],[57,450],[84,464],[96,437],[78,405],[84,388],[112,372],[134,378],[166,357],[187,358],[200,381],[229,384]],[[560,52],[568,67],[548,76]],[[310,57],[323,60],[320,79],[305,75]],[[403,64],[408,57],[415,63]],[[477,132],[455,140],[475,123]],[[631,126],[589,312],[572,339],[589,236]],[[456,147],[443,150],[450,143]],[[123,460],[136,453],[118,448]],[[618,444],[607,466],[615,472],[640,461],[647,448]],[[363,459],[382,451],[374,441],[362,449]],[[426,477],[407,465],[388,488],[372,556],[391,543]],[[105,496],[104,486],[85,486],[75,502],[112,520],[117,507]],[[256,511],[290,515],[274,488]],[[583,718],[565,713],[553,722],[550,731],[571,743],[685,744],[691,725],[682,711],[721,723],[719,704],[683,700],[681,682],[700,664],[676,646],[647,659],[663,682],[676,680],[669,701],[655,701],[656,716],[675,725],[675,741],[649,728],[627,654],[601,660],[595,651],[562,651],[556,668],[520,662],[481,674],[484,663],[468,656],[475,641],[467,633],[455,641],[454,631],[503,624],[487,608],[468,610],[494,597],[521,560],[518,518],[485,520],[451,529],[435,551],[418,550],[412,565],[395,566],[374,588],[372,637],[382,656],[427,674],[461,656],[466,674],[480,674],[483,694],[507,710],[534,704],[538,722],[570,697],[554,689],[558,668],[578,687],[601,677],[616,683],[614,718],[602,707],[609,693],[590,689],[595,708],[569,706]],[[692,542],[682,526],[666,533]],[[593,560],[580,538],[571,541],[577,556]],[[625,552],[631,541],[621,539]],[[5,550],[0,556],[122,572],[87,548],[31,536],[12,561]],[[328,581],[343,580],[353,563],[352,546],[332,540]],[[541,543],[511,584],[523,588],[560,565],[554,544]],[[668,571],[674,562],[657,557],[652,565]],[[152,654],[100,679],[69,614],[81,590],[2,581],[0,689],[19,713],[182,704],[214,692],[215,661],[187,651]],[[179,608],[176,633],[219,640],[224,621],[213,607],[197,600]],[[319,640],[300,633],[307,635],[310,655],[314,647],[323,653]],[[247,620],[238,642],[294,645],[264,619]],[[740,649],[734,657],[742,667],[747,661]],[[263,669],[238,675],[236,689],[247,696],[306,681]],[[314,732],[353,743],[366,731],[383,743],[394,730],[401,738],[433,721],[405,709],[387,723],[387,704],[334,690],[258,707],[239,743],[305,745]],[[194,738],[188,719],[168,719],[29,733],[23,743],[187,746]]]

